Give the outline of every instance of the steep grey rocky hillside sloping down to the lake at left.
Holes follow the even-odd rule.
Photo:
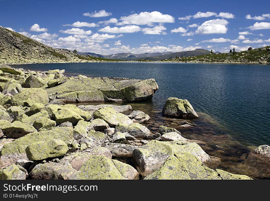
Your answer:
[[[82,56],[55,49],[17,32],[0,27],[0,64],[103,62],[108,59]]]

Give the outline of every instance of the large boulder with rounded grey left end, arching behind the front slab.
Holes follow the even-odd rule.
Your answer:
[[[148,144],[134,149],[132,157],[139,173],[147,176],[158,169],[172,154],[188,152],[198,157],[202,162],[210,159],[196,143],[186,141],[160,142],[151,140]]]

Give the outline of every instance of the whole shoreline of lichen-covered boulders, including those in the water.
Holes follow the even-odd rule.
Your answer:
[[[0,179],[251,179],[208,166],[220,159],[207,154],[175,128],[152,133],[150,117],[130,105],[83,105],[151,99],[154,79],[64,76],[64,70],[35,72],[0,66]],[[73,104],[70,104],[73,103]],[[76,105],[74,104],[76,103]],[[187,100],[168,98],[163,115],[197,118]],[[143,125],[142,125],[143,124]],[[132,166],[124,163],[132,161]],[[245,166],[264,164],[262,145]],[[268,171],[268,172],[267,172]],[[245,173],[243,173],[245,174]]]

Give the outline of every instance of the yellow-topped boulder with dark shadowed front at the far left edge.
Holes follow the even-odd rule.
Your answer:
[[[29,124],[22,123],[21,121],[14,121],[10,125],[3,127],[2,132],[7,137],[20,138],[28,133],[37,132],[37,130]]]

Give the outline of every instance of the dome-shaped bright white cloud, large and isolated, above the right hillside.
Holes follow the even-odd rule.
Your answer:
[[[227,33],[227,24],[229,22],[224,19],[208,20],[196,30],[196,34],[224,34]]]

